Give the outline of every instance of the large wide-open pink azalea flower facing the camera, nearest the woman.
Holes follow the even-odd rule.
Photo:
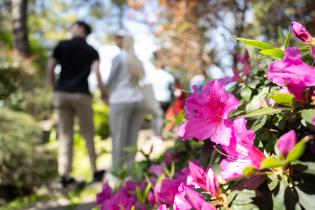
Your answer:
[[[224,85],[217,80],[210,81],[201,93],[196,90],[185,102],[187,117],[179,135],[185,139],[211,138],[217,144],[228,146],[231,137],[229,114],[237,109],[240,102],[226,92]]]

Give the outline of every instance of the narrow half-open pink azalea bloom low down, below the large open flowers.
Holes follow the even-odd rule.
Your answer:
[[[216,174],[211,168],[204,171],[198,163],[189,162],[190,175],[195,184],[216,197],[220,194],[220,186]]]

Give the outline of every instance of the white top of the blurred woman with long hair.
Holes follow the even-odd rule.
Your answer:
[[[106,83],[106,88],[111,91],[109,104],[135,103],[143,100],[139,86],[131,82],[128,68],[128,53],[121,50],[113,58],[112,67]]]

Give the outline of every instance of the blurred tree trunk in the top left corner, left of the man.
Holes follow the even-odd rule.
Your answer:
[[[30,44],[27,29],[28,0],[11,0],[11,15],[13,23],[13,45],[22,55],[30,55]]]

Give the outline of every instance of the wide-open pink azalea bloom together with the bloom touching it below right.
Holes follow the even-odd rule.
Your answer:
[[[201,93],[194,92],[185,105],[187,121],[179,135],[186,139],[210,138],[221,145],[226,153],[226,159],[220,164],[223,179],[242,176],[248,166],[259,168],[265,156],[254,146],[255,133],[246,128],[245,118],[229,119],[240,102],[225,90],[224,84],[210,81]]]

